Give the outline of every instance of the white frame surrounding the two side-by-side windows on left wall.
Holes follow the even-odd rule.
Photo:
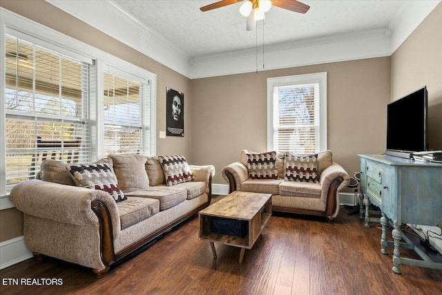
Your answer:
[[[56,30],[52,30],[43,26],[35,21],[31,21],[30,19],[26,19],[26,17],[22,17],[13,12],[10,12],[4,8],[0,8],[0,117],[1,120],[6,120],[6,111],[4,108],[4,93],[5,93],[5,64],[6,64],[6,56],[4,54],[4,48],[6,46],[6,32],[10,29],[16,30],[27,35],[27,38],[32,38],[30,41],[39,44],[38,42],[43,41],[44,47],[49,48],[48,44],[52,44],[57,46],[57,50],[66,50],[68,55],[75,56],[77,54],[78,57],[86,57],[88,59],[92,59],[95,61],[95,66],[90,68],[91,82],[90,82],[90,154],[91,160],[97,160],[102,158],[103,151],[100,150],[99,146],[99,133],[104,129],[103,122],[103,113],[99,111],[99,107],[97,104],[99,103],[99,97],[103,99],[103,66],[104,64],[111,65],[120,70],[124,70],[127,73],[131,73],[137,77],[142,77],[150,82],[150,95],[151,102],[148,108],[149,112],[149,130],[148,130],[148,140],[150,142],[150,150],[148,151],[148,156],[152,156],[156,154],[156,75],[149,72],[148,70],[144,70],[134,64],[129,63],[128,61],[124,61],[123,59],[119,59],[113,55],[110,55],[102,50],[89,46],[88,44],[84,44],[83,42],[74,39],[72,37],[68,37]],[[101,67],[101,68],[100,68]],[[95,81],[94,81],[95,80]],[[4,129],[5,124],[1,124],[0,126],[0,210],[8,209],[14,207],[14,204],[10,202],[9,196],[6,194],[6,144],[3,140],[6,135],[6,131]],[[101,131],[100,131],[101,129]]]

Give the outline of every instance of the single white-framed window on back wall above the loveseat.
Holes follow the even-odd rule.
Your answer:
[[[267,79],[267,149],[327,149],[327,73]]]

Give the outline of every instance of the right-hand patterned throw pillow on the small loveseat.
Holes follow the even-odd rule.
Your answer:
[[[318,181],[318,154],[313,155],[285,155],[285,180],[317,182]]]

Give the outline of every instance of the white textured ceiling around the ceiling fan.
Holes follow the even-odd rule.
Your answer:
[[[242,3],[201,12],[200,7],[217,0],[111,0],[117,6],[162,35],[189,57],[201,57],[256,47],[353,34],[390,28],[403,6],[398,0],[305,0],[311,6],[302,15],[277,7],[267,12],[256,30],[246,31]]]

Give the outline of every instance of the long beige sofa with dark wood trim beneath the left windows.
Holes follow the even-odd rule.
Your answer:
[[[211,165],[189,165],[192,181],[167,186],[157,157],[110,155],[96,163],[113,167],[127,200],[115,202],[106,191],[77,187],[70,166],[55,160],[41,164],[39,180],[12,189],[10,199],[23,212],[26,245],[36,257],[84,265],[100,278],[211,202]]]

